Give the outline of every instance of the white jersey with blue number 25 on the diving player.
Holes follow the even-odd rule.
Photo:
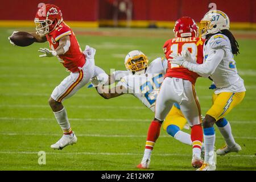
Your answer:
[[[120,78],[121,75],[126,73],[127,75],[122,77],[117,86],[122,85],[127,90],[127,93],[133,94],[144,105],[155,111],[156,97],[158,97],[166,69],[167,60],[159,57],[148,65],[146,73],[142,75],[133,75],[129,74],[129,72],[121,71],[114,72],[114,75]]]

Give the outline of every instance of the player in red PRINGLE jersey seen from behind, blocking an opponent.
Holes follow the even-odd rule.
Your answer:
[[[193,57],[196,57],[197,64],[202,64],[203,40],[197,38],[197,29],[192,18],[182,17],[178,19],[174,27],[175,38],[167,40],[163,46],[166,58],[170,59],[171,53],[178,54],[188,50]],[[155,118],[148,129],[144,156],[141,164],[137,167],[148,168],[152,149],[160,134],[160,127],[174,102],[180,104],[180,109],[191,126],[192,166],[200,167],[203,164],[203,160],[201,160],[203,130],[201,128],[201,110],[195,90],[196,78],[199,75],[169,62],[164,77],[156,100]]]

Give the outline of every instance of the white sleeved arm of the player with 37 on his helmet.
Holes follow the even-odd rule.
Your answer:
[[[206,75],[211,75],[215,71],[223,57],[223,49],[212,49],[203,64],[193,64],[189,63],[188,61],[184,61],[183,67],[205,77]]]

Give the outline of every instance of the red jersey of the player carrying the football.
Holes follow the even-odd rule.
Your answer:
[[[57,26],[55,30],[49,32],[49,34],[46,35],[46,38],[49,42],[50,48],[55,50],[59,47],[60,38],[63,38],[63,36],[66,35],[69,35],[71,45],[67,52],[56,57],[69,71],[77,72],[79,71],[79,67],[82,68],[85,64],[85,55],[82,53],[79,43],[76,40],[76,36],[71,28],[63,22]]]

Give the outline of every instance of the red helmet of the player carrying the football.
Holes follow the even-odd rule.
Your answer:
[[[39,7],[35,15],[36,34],[45,35],[54,30],[63,21],[59,7],[51,4]]]

